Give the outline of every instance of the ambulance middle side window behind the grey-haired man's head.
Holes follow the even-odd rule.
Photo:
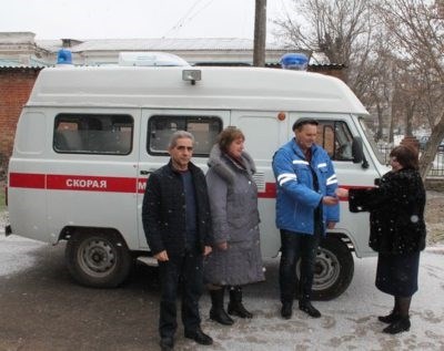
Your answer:
[[[193,156],[210,155],[222,121],[216,116],[154,115],[149,121],[147,151],[152,155],[168,155],[168,144],[176,131],[188,131],[194,136]]]

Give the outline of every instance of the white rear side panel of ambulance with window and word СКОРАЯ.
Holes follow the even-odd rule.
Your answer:
[[[138,248],[135,109],[58,109],[50,125],[49,234],[63,227],[112,228]]]

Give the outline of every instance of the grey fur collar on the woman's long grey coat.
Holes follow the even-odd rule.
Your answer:
[[[246,173],[249,174],[249,177],[251,177],[254,173],[256,173],[254,161],[246,152],[242,152],[241,157],[246,168]],[[211,149],[208,165],[229,184],[233,184],[235,182],[236,168],[245,172],[245,169],[236,165],[234,161],[232,161],[226,155],[222,154],[221,148],[219,147],[218,144],[215,144]]]

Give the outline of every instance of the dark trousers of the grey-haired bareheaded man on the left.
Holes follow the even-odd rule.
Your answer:
[[[161,338],[172,338],[178,329],[176,298],[179,281],[182,287],[182,322],[185,331],[195,331],[201,324],[199,299],[203,292],[203,256],[188,251],[181,256],[170,256],[170,260],[159,262],[161,302],[159,332]]]

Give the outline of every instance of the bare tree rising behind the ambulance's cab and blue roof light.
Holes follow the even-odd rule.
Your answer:
[[[384,27],[377,25],[373,0],[294,0],[294,9],[275,20],[276,34],[289,47],[322,52],[330,63],[346,66],[344,81],[369,111],[377,116],[377,133],[383,135],[392,95],[391,48]]]

